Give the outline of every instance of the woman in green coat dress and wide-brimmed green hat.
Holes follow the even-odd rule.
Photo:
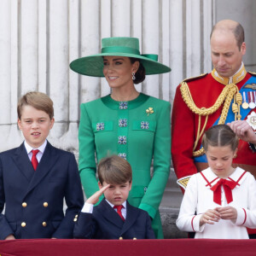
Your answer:
[[[101,54],[79,58],[70,67],[105,77],[111,88],[110,95],[81,104],[79,172],[86,197],[98,190],[96,161],[118,154],[132,168],[128,201],[148,212],[155,236],[163,238],[159,206],[170,172],[171,105],[139,93],[134,84],[143,82],[145,74],[171,69],[160,64],[157,55],[140,55],[137,38],[103,38]]]

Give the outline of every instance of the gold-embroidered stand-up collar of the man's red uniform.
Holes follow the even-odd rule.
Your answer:
[[[242,62],[241,62],[240,69],[236,72],[236,74],[234,76],[232,76],[230,78],[224,78],[224,77],[220,76],[218,74],[218,72],[215,70],[215,68],[212,70],[213,79],[217,80],[218,83],[224,84],[224,85],[237,84],[237,83],[241,82],[241,80],[244,79],[246,75],[247,75],[247,71]]]

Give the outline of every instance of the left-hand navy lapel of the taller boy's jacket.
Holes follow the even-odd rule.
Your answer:
[[[20,147],[16,149],[15,155],[13,155],[12,158],[15,161],[17,168],[26,177],[27,181],[30,182],[35,171],[32,167],[31,161],[28,158],[24,143],[22,143]]]

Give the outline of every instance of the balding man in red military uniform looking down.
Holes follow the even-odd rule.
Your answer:
[[[256,130],[256,74],[247,73],[242,62],[246,53],[242,26],[234,20],[221,20],[213,26],[211,52],[212,73],[185,79],[173,102],[172,162],[183,189],[191,175],[208,167],[201,146],[204,131],[212,125],[231,123],[243,138],[237,127],[246,121]],[[233,163],[255,177],[256,154],[247,141],[240,140]]]

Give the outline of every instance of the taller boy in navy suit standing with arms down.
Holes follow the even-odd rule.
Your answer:
[[[46,140],[55,122],[53,102],[29,92],[17,110],[25,141],[0,154],[0,239],[73,238],[84,197],[74,155]]]

